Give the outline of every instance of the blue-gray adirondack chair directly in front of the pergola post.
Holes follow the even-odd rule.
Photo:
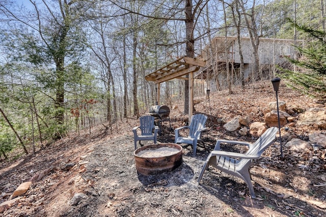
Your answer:
[[[206,120],[207,116],[204,114],[192,115],[189,126],[183,126],[174,130],[174,143],[186,143],[193,145],[193,156],[196,156],[197,143],[202,141],[201,133],[207,130],[205,127]],[[188,137],[182,137],[179,134],[179,131],[185,128],[189,129]]]

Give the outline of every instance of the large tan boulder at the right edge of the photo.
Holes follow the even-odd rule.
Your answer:
[[[298,117],[298,126],[317,125],[321,130],[326,130],[326,109],[311,108]]]

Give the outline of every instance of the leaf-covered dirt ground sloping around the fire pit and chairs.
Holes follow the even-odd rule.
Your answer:
[[[200,183],[198,175],[217,139],[253,142],[253,136],[226,132],[221,119],[250,116],[263,121],[263,110],[275,101],[270,81],[244,90],[212,93],[210,99],[196,99],[196,113],[208,116],[196,157],[192,147],[183,147],[183,163],[174,171],[159,175],[139,174],[133,156],[131,129],[137,118],[123,119],[112,129],[99,125],[69,135],[40,149],[33,156],[21,156],[0,164],[0,203],[24,181],[47,171],[28,192],[0,216],[326,216],[326,166],[321,150],[312,147],[294,152],[283,146],[280,158],[278,141],[252,164],[251,174],[257,199],[251,199],[247,185],[236,177],[209,168]],[[279,100],[288,107],[304,110],[323,106],[284,85]],[[210,108],[209,109],[209,105]],[[184,126],[182,103],[171,106],[171,125]],[[309,134],[320,131],[314,126],[291,127],[292,136],[308,140]],[[288,136],[289,137],[289,136]],[[287,142],[288,137],[282,137]],[[158,142],[174,142],[168,121],[162,122]],[[151,142],[142,142],[143,145]],[[243,151],[225,146],[223,150]],[[77,197],[79,196],[79,197]]]

